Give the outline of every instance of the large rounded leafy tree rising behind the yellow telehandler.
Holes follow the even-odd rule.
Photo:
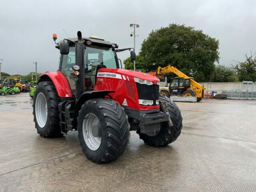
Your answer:
[[[170,64],[198,82],[207,82],[214,74],[214,62],[219,61],[218,48],[219,41],[202,30],[170,24],[152,30],[142,42],[140,55],[145,58],[146,72]]]

